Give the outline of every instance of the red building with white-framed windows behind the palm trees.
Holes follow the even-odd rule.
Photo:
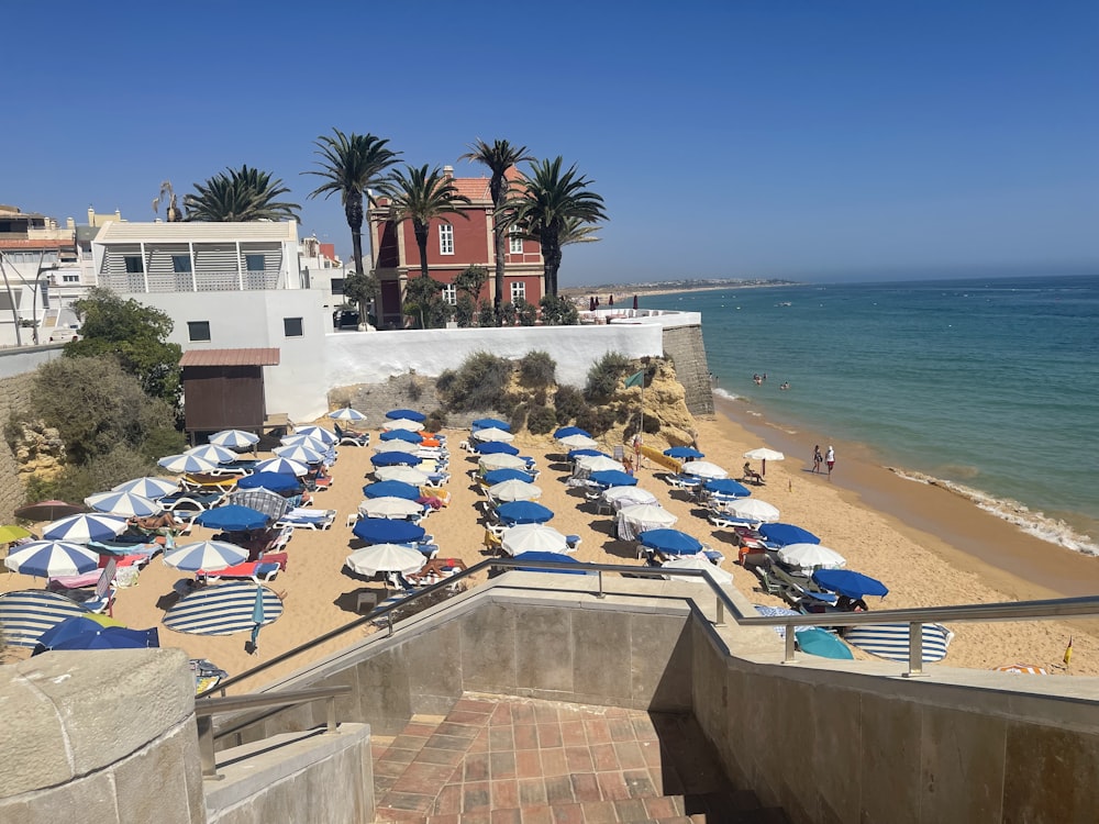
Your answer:
[[[443,171],[447,177],[454,176],[451,166],[443,167]],[[512,168],[508,176],[518,178],[519,172]],[[454,178],[455,188],[459,194],[469,198],[469,204],[459,205],[462,214],[447,214],[431,222],[428,271],[445,285],[443,298],[452,304],[457,301],[454,279],[473,264],[488,269],[489,279],[481,290],[480,301],[492,302],[496,252],[492,245],[492,198],[488,185],[487,177]],[[409,278],[420,277],[420,248],[412,221],[398,224],[381,219],[388,211],[388,203],[386,198],[379,198],[378,208],[373,210],[375,219],[369,220],[370,211],[367,213],[367,225],[370,229],[374,272],[381,285],[378,324],[381,329],[401,329],[404,325],[401,314],[404,285]],[[544,293],[545,267],[539,244],[509,237],[504,243],[504,301],[514,302],[522,298],[528,303],[536,304]]]

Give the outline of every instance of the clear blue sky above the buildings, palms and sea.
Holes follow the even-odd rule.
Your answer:
[[[547,10],[540,15],[539,9]],[[0,202],[152,220],[227,166],[271,171],[303,234],[313,141],[403,159],[477,137],[562,155],[610,222],[563,286],[879,279],[1099,266],[1099,4],[18,3]],[[1020,274],[1020,272],[1014,272]]]

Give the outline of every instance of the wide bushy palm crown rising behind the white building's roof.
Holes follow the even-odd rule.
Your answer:
[[[249,169],[225,169],[206,181],[195,183],[195,193],[184,198],[188,221],[279,221],[298,220],[297,203],[277,200],[290,190],[270,172]]]

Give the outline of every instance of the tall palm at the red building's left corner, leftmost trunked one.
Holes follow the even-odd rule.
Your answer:
[[[317,138],[314,154],[321,156],[317,162],[320,168],[302,174],[318,175],[325,180],[309,193],[310,198],[323,194],[328,199],[333,192],[340,192],[355,256],[354,281],[347,286],[359,296],[359,319],[365,324],[366,296],[373,290],[359,289],[356,285],[363,283],[367,277],[363,269],[363,198],[369,197],[370,189],[381,186],[386,180],[386,169],[397,163],[400,153],[388,149],[386,144],[389,141],[373,134],[344,134],[338,129],[332,132],[332,136],[322,134]]]

